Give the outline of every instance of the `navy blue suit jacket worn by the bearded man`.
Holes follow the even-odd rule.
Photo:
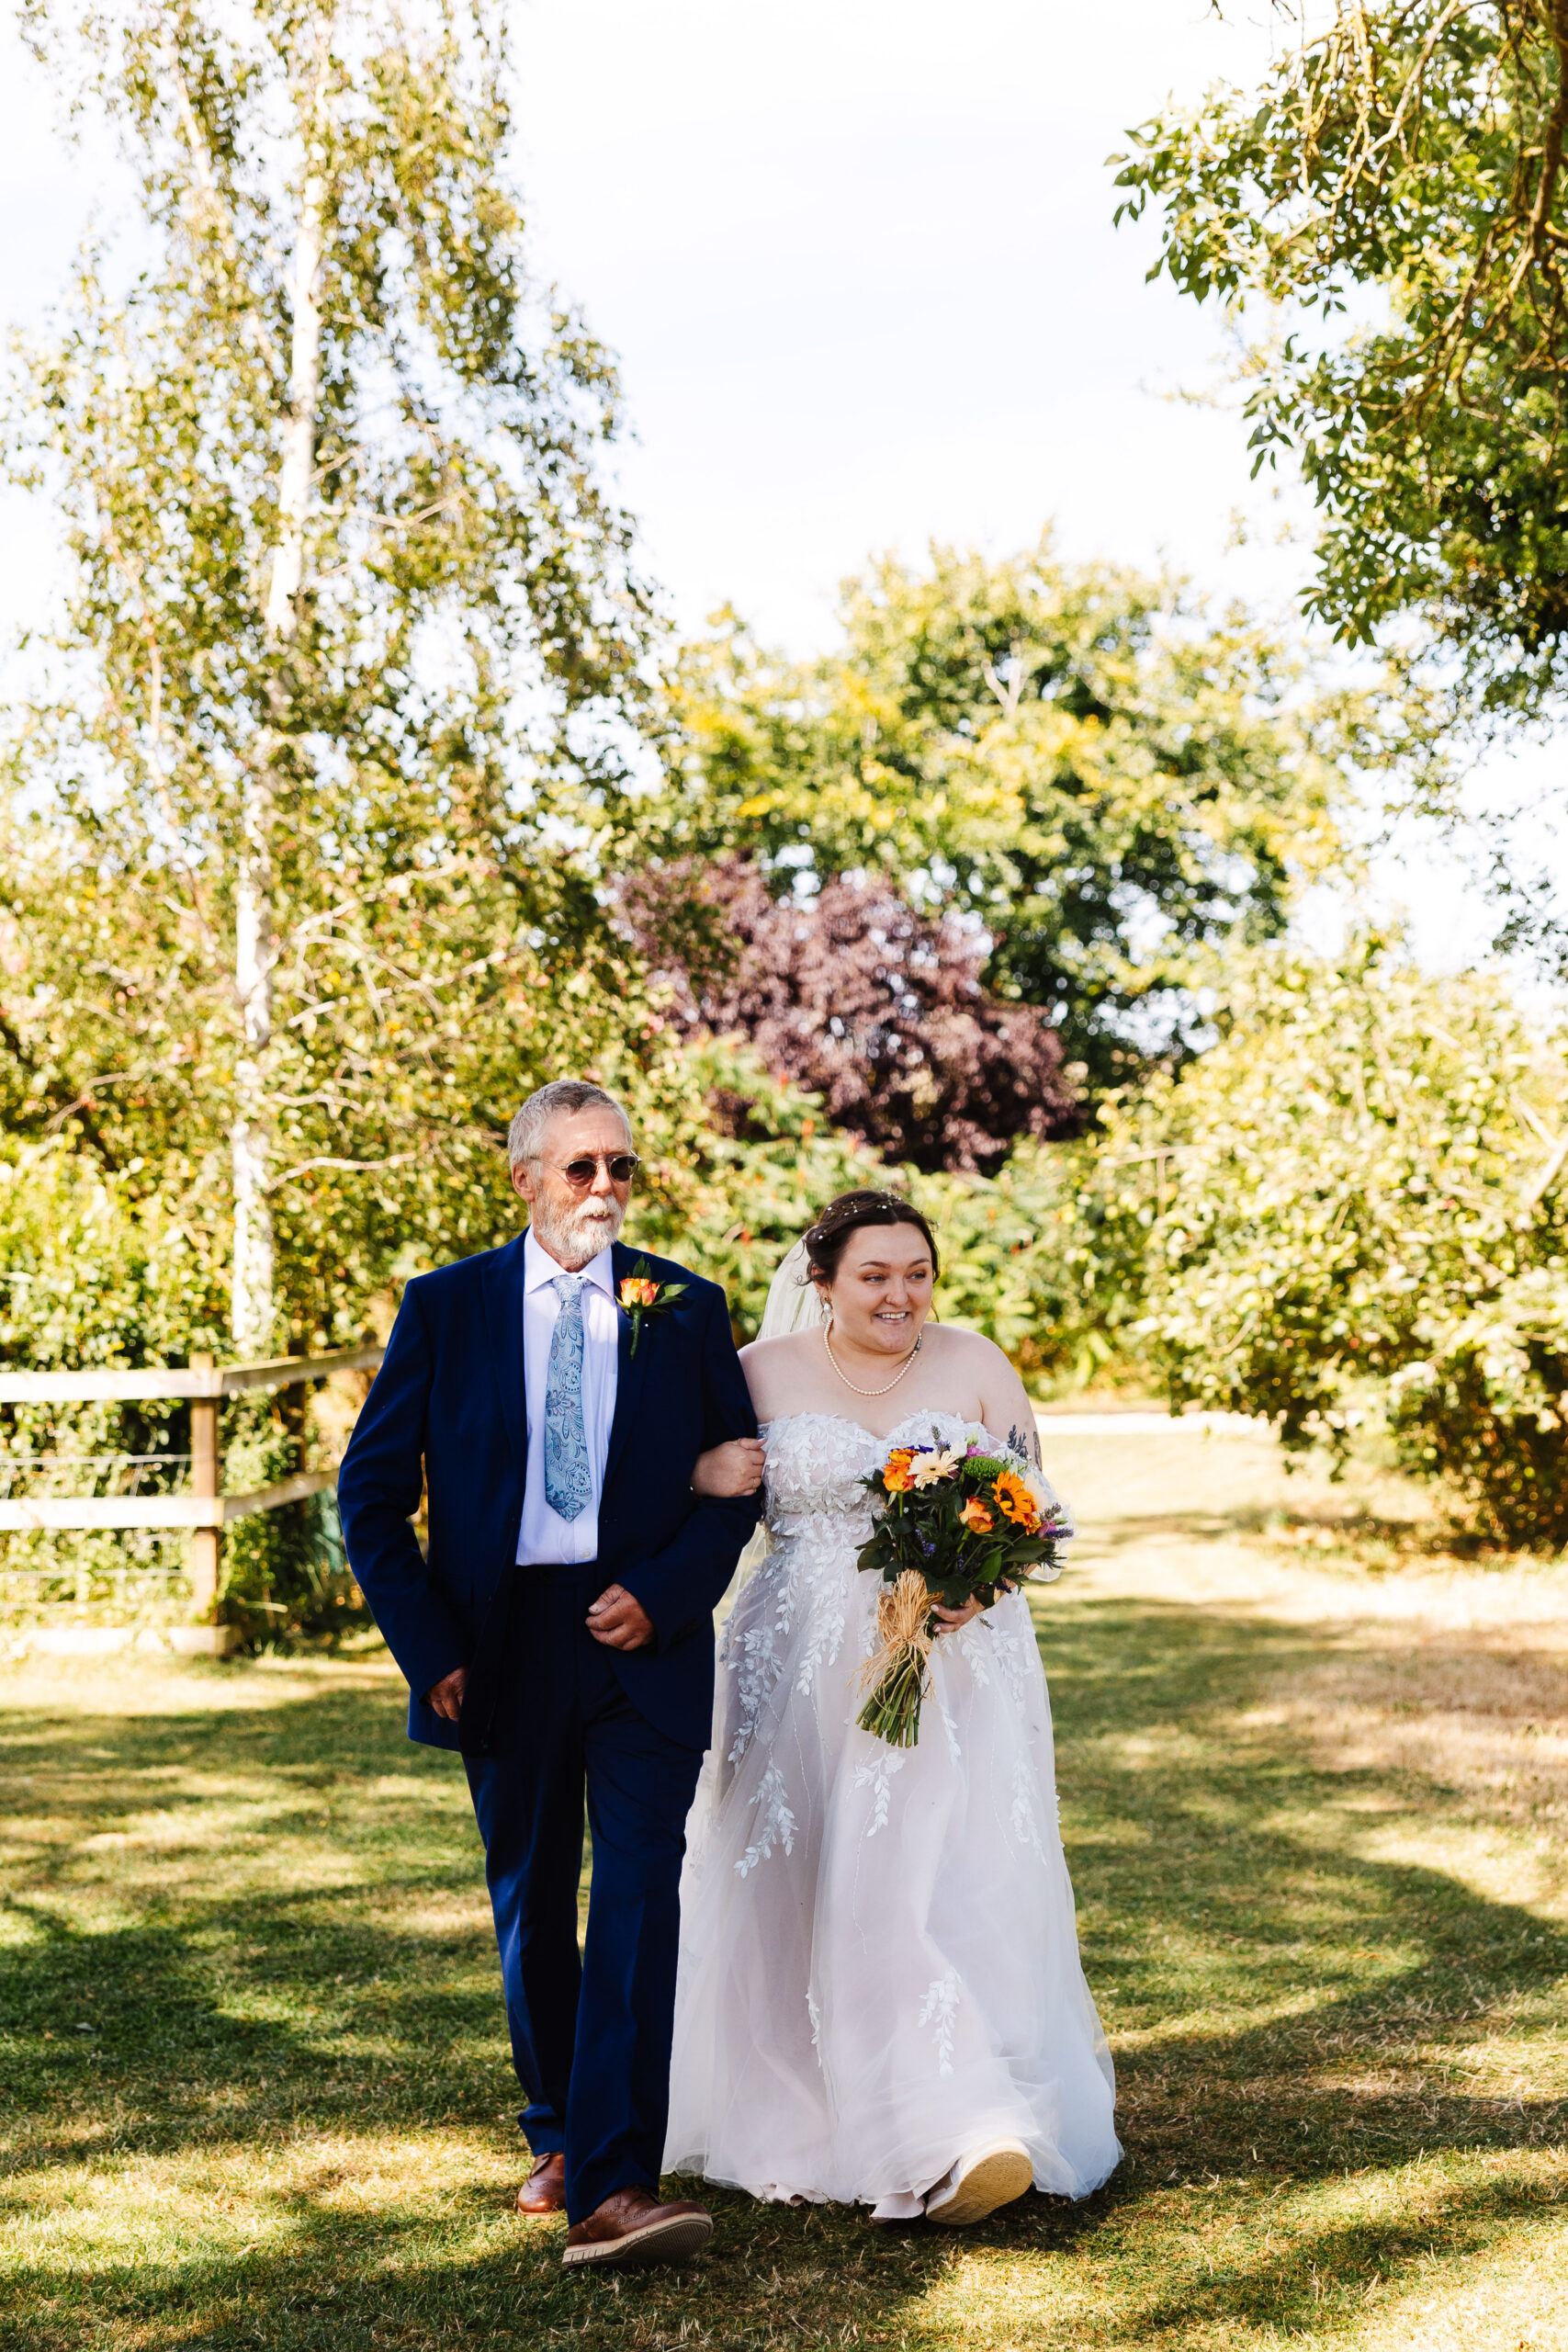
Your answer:
[[[616,1289],[646,1251],[616,1242]],[[684,1294],[649,1315],[632,1355],[621,1312],[616,1411],[599,1496],[599,1569],[654,1621],[646,1649],[607,1649],[632,1705],[670,1738],[705,1748],[712,1726],[712,1609],[736,1571],[759,1496],[708,1501],[691,1468],[757,1418],[715,1282],[646,1258]],[[402,1294],[339,1470],[348,1562],[409,1682],[409,1738],[482,1752],[501,1691],[527,1479],[522,1385],[522,1235],[505,1249],[418,1275]],[[423,1475],[421,1475],[423,1472]],[[428,1555],[411,1529],[428,1491]],[[522,1571],[527,1583],[527,1571]],[[515,1651],[512,1651],[515,1656]],[[468,1668],[461,1724],[425,1703]]]

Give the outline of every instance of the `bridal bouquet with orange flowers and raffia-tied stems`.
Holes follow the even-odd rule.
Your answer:
[[[940,1439],[893,1446],[865,1486],[882,1510],[858,1564],[879,1573],[884,1590],[882,1646],[865,1668],[872,1691],[858,1722],[891,1748],[914,1748],[936,1639],[931,1604],[961,1609],[976,1597],[990,1609],[997,1592],[1039,1569],[1058,1573],[1072,1529],[1034,1470],[980,1439],[964,1451]]]

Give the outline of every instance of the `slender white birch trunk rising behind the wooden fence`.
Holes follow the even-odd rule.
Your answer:
[[[327,78],[322,54],[308,111],[306,136],[315,148],[320,136],[320,96]],[[287,659],[299,630],[299,595],[306,579],[306,520],[315,470],[315,423],[322,383],[322,242],[327,188],[320,169],[308,165],[294,238],[294,341],[289,350],[289,414],[282,433],[277,470],[277,541],[266,597],[266,635],[277,663]],[[277,1336],[273,1296],[273,1122],[268,1101],[268,1058],[273,1042],[273,964],[277,962],[273,920],[273,816],[277,755],[287,691],[273,682],[273,724],[261,731],[256,760],[244,779],[240,818],[240,870],[235,887],[235,997],[242,1021],[242,1051],[235,1061],[235,1122],[230,1127],[230,1164],[235,1190],[235,1263],[230,1291],[230,1336],[235,1355],[270,1355]]]

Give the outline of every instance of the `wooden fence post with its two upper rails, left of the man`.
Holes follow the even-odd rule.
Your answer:
[[[190,1494],[40,1494],[0,1501],[0,1534],[38,1529],[103,1531],[118,1526],[183,1526],[190,1531],[190,1606],[197,1621],[212,1616],[219,1597],[219,1545],[223,1529],[256,1510],[280,1510],[336,1486],[336,1470],[301,1470],[275,1486],[223,1494],[219,1454],[219,1402],[252,1388],[299,1388],[334,1371],[376,1371],[381,1348],[336,1348],[331,1355],[280,1355],[259,1364],[214,1364],[195,1355],[190,1364],[139,1367],[136,1371],[0,1371],[0,1404],[143,1404],[160,1397],[190,1399]],[[63,1463],[59,1468],[66,1468]]]

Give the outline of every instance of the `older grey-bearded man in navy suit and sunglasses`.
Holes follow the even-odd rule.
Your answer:
[[[757,1425],[724,1291],[616,1240],[637,1157],[614,1096],[541,1087],[508,1148],[529,1230],[409,1282],[339,1475],[343,1536],[409,1738],[468,1771],[534,2150],[520,2211],[564,2206],[567,2265],[682,2260],[712,2223],[658,2201],[679,1865],[712,1606],[757,1519],[691,1470]]]

